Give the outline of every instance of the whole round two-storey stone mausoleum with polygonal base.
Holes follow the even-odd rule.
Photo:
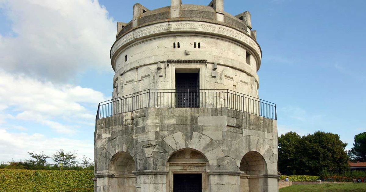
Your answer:
[[[98,106],[95,191],[277,192],[261,55],[250,13],[223,0],[135,4],[110,53],[113,98]]]

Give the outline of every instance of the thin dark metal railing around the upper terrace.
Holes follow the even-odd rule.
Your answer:
[[[96,120],[148,107],[229,108],[277,119],[275,103],[232,90],[148,89],[99,103]]]

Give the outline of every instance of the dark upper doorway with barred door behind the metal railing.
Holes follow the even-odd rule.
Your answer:
[[[199,73],[176,73],[177,107],[199,107]]]

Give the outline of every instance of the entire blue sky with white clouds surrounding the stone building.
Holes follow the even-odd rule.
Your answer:
[[[0,0],[0,161],[58,148],[93,156],[97,103],[112,92],[116,22],[131,20],[134,3],[151,10],[170,1]],[[333,132],[349,149],[366,131],[364,7],[225,1],[230,14],[251,12],[263,52],[259,95],[277,104],[279,133]]]

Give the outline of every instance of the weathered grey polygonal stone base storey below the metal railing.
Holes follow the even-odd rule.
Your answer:
[[[97,121],[95,190],[278,191],[276,120],[227,108],[145,108]]]

